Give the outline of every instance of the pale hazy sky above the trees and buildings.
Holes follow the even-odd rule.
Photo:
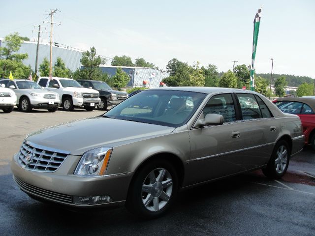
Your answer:
[[[219,72],[251,64],[253,19],[262,6],[256,73],[315,78],[314,0],[2,1],[0,38],[19,32],[49,41],[48,11],[58,9],[53,41],[113,58],[144,58],[161,69],[176,58]],[[44,28],[46,27],[46,29]],[[48,32],[48,34],[47,34]],[[107,61],[110,64],[110,60]]]

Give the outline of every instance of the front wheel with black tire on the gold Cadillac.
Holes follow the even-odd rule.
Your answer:
[[[136,172],[129,186],[126,207],[141,218],[157,218],[171,207],[177,192],[178,176],[174,167],[156,159]]]

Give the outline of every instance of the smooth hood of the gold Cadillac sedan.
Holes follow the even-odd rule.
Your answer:
[[[175,128],[134,121],[95,117],[42,129],[28,135],[33,144],[65,150],[72,155],[98,147],[115,147],[160,136]]]

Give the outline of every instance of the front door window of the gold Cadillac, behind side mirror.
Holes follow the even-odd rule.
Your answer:
[[[231,94],[220,94],[210,98],[203,109],[203,115],[219,114],[224,118],[224,122],[236,120],[235,108]]]

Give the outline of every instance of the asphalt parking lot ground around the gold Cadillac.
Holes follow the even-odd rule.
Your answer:
[[[74,212],[45,205],[16,186],[9,166],[25,135],[103,113],[0,112],[0,235],[314,235],[315,151],[311,147],[291,159],[280,180],[255,171],[182,191],[167,215],[150,221],[135,218],[123,207]]]

